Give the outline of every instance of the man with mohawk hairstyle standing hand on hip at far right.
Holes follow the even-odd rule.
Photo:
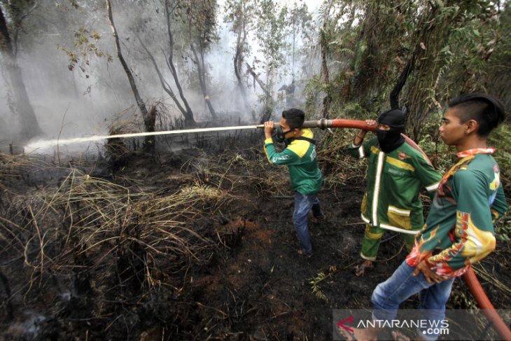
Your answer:
[[[507,211],[500,169],[486,139],[503,122],[496,97],[466,94],[449,102],[439,129],[445,144],[455,146],[458,162],[444,174],[426,224],[412,252],[372,293],[372,319],[395,319],[399,305],[419,293],[419,309],[428,326],[445,319],[445,304],[456,277],[495,249],[493,224]],[[436,324],[438,325],[438,324]],[[377,340],[381,328],[353,328],[348,340]],[[437,340],[440,330],[417,328],[419,340]],[[396,338],[402,338],[395,333]]]

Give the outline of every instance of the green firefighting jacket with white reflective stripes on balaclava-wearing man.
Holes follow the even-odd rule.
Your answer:
[[[369,158],[361,207],[363,221],[398,232],[422,228],[424,218],[419,192],[424,187],[433,197],[442,178],[424,155],[406,142],[384,153],[376,137],[362,146],[352,144],[348,151],[353,156]]]

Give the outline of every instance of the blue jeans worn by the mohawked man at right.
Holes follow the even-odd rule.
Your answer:
[[[373,320],[390,321],[394,319],[399,305],[415,293],[419,293],[419,309],[421,309],[423,319],[437,321],[436,323],[445,319],[445,303],[451,295],[454,278],[446,279],[440,283],[428,283],[423,274],[414,277],[414,270],[414,267],[402,262],[390,278],[374,288],[371,297],[374,305]],[[437,340],[439,336],[425,335],[423,331],[417,330],[423,340]]]

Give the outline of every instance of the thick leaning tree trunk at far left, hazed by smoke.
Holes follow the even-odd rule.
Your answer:
[[[0,50],[3,55],[6,70],[8,72],[10,87],[13,90],[16,110],[20,117],[21,137],[30,139],[42,133],[37,122],[34,108],[30,104],[27,88],[23,81],[22,72],[14,53],[13,43],[10,40],[6,19],[0,7]]]

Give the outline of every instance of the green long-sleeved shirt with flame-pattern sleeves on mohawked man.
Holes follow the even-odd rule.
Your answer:
[[[426,225],[407,263],[421,260],[437,274],[456,277],[495,249],[493,223],[507,211],[493,148],[458,153],[461,160],[444,174]]]

